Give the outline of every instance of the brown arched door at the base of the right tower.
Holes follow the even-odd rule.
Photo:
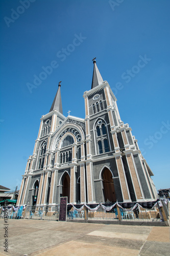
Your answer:
[[[104,194],[105,202],[107,200],[109,200],[110,202],[116,202],[113,176],[108,168],[105,168],[103,170],[102,179],[103,179],[103,194]]]

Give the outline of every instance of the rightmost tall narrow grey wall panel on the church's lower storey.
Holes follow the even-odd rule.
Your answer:
[[[133,156],[134,156],[134,161],[135,161],[135,164],[136,164],[137,172],[138,172],[138,175],[139,175],[139,178],[140,178],[140,182],[141,182],[141,185],[142,185],[144,197],[145,198],[152,198],[151,195],[150,195],[148,185],[147,185],[147,181],[145,180],[145,176],[144,176],[143,169],[142,169],[142,166],[141,166],[141,163],[140,163],[140,160],[139,160],[139,156],[138,155],[133,155]]]

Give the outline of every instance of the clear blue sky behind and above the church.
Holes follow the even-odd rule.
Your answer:
[[[63,114],[70,110],[73,116],[85,117],[83,93],[91,89],[96,57],[103,79],[116,95],[120,117],[132,127],[154,173],[156,188],[169,188],[170,2],[0,4],[1,185],[13,190],[20,186],[40,118],[50,110],[60,80]],[[144,62],[139,61],[142,58]],[[51,64],[55,66],[43,76],[42,67]],[[43,80],[29,90],[34,75]]]

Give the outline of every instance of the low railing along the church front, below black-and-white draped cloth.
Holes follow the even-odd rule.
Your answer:
[[[94,221],[130,221],[130,222],[163,222],[169,219],[168,203],[161,200],[161,206],[156,204],[153,209],[146,209],[139,207],[139,205],[132,210],[121,208],[120,205],[115,205],[111,210],[107,211],[101,205],[98,210],[90,210],[85,206],[78,210],[74,207],[79,207],[80,204],[71,206],[70,210],[67,210],[67,220],[94,220]],[[59,219],[60,205],[41,205],[41,206],[26,206],[22,211],[20,218],[36,219],[36,220],[57,220]],[[70,207],[69,207],[70,208]],[[4,212],[1,210],[0,218],[4,218]],[[10,212],[8,210],[8,218],[17,218],[17,211]]]

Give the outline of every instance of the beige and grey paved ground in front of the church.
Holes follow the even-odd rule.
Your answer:
[[[0,255],[170,255],[169,227],[8,220],[8,253],[0,220]]]

